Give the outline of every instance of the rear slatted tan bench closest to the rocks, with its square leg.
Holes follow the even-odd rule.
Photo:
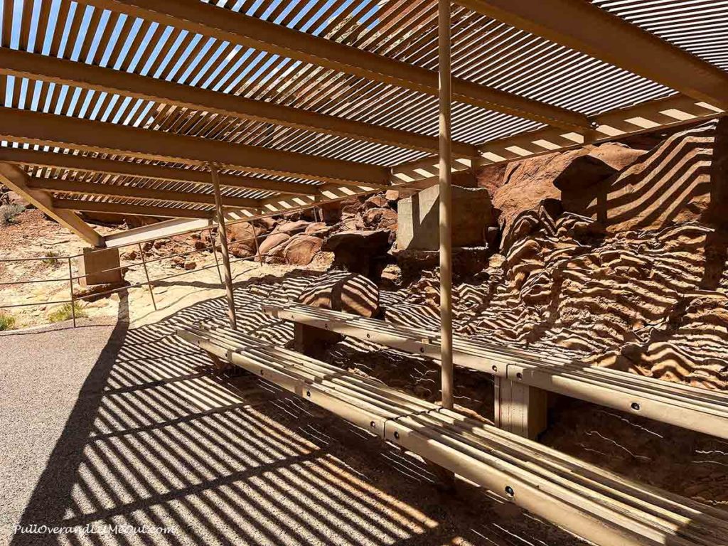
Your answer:
[[[264,312],[310,328],[372,341],[416,355],[440,357],[439,334],[420,328],[301,304],[264,306]],[[496,424],[534,438],[545,424],[545,397],[555,392],[630,414],[728,439],[728,394],[598,368],[563,357],[539,355],[456,336],[453,362],[496,376]],[[537,390],[538,389],[538,390]],[[505,392],[508,391],[508,392]],[[534,399],[535,403],[534,403]],[[513,403],[504,403],[504,400]],[[505,412],[521,411],[519,416]],[[519,425],[520,423],[520,425]]]

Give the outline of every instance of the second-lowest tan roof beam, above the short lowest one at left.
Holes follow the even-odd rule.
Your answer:
[[[137,188],[135,186],[75,182],[61,180],[59,178],[28,178],[28,187],[48,191],[63,191],[70,194],[134,197],[136,199],[215,205],[215,196],[213,194],[195,194],[187,191],[169,191],[163,189]],[[245,199],[242,197],[226,197],[225,202],[229,207],[253,208],[256,210],[261,204],[258,199]]]

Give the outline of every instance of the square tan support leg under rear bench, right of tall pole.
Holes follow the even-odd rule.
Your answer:
[[[496,427],[530,440],[546,430],[548,397],[545,390],[496,377],[494,402]]]

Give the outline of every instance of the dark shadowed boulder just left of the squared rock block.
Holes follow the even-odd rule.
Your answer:
[[[333,252],[333,266],[379,280],[389,246],[386,229],[345,231],[329,237],[322,250]]]

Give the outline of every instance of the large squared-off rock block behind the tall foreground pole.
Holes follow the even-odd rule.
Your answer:
[[[440,243],[440,188],[431,186],[398,204],[397,248],[438,250]],[[480,247],[488,226],[496,222],[488,191],[452,186],[452,245]]]

